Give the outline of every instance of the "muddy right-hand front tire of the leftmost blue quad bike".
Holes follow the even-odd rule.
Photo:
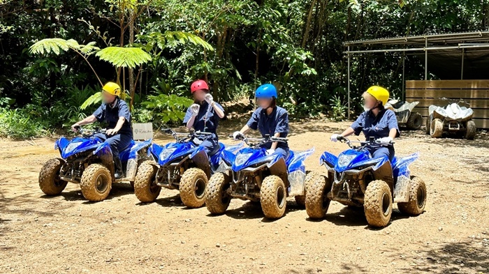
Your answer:
[[[85,199],[103,201],[112,189],[112,175],[109,169],[100,164],[89,165],[82,174],[80,188]]]

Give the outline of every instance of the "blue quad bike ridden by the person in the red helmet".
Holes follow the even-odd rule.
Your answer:
[[[207,156],[203,146],[198,146],[197,137],[210,135],[209,132],[191,130],[190,133],[177,133],[171,129],[164,132],[173,135],[176,142],[149,148],[151,162],[145,162],[138,169],[134,183],[134,193],[142,202],[152,202],[158,197],[161,187],[180,190],[180,199],[189,208],[199,208],[205,203],[205,187],[208,178],[219,165],[223,151],[233,153],[242,148],[238,146],[219,146]]]

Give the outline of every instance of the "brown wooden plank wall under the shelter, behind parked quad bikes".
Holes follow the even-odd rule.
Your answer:
[[[431,80],[406,81],[406,100],[418,101],[414,108],[423,119],[428,117],[428,107],[444,107],[448,101],[441,98],[461,99],[474,109],[477,128],[489,128],[489,80]]]

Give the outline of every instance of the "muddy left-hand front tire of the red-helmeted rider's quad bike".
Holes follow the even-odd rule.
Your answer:
[[[143,162],[138,167],[138,173],[134,181],[134,194],[139,201],[150,203],[161,192],[161,186],[156,185],[156,172],[158,168],[151,164],[151,161]]]

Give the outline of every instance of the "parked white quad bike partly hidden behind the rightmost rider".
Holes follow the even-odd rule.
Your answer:
[[[413,112],[414,107],[419,102],[404,102],[400,100],[388,100],[386,109],[391,109],[395,113],[397,123],[404,125],[409,130],[419,130],[423,125],[423,116],[418,112]]]

